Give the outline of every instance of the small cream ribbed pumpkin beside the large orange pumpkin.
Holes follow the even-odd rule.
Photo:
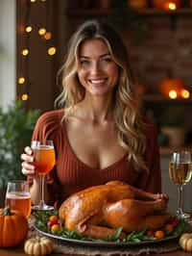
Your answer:
[[[30,255],[46,255],[53,250],[53,243],[45,237],[33,237],[27,240],[24,244],[24,251]]]

